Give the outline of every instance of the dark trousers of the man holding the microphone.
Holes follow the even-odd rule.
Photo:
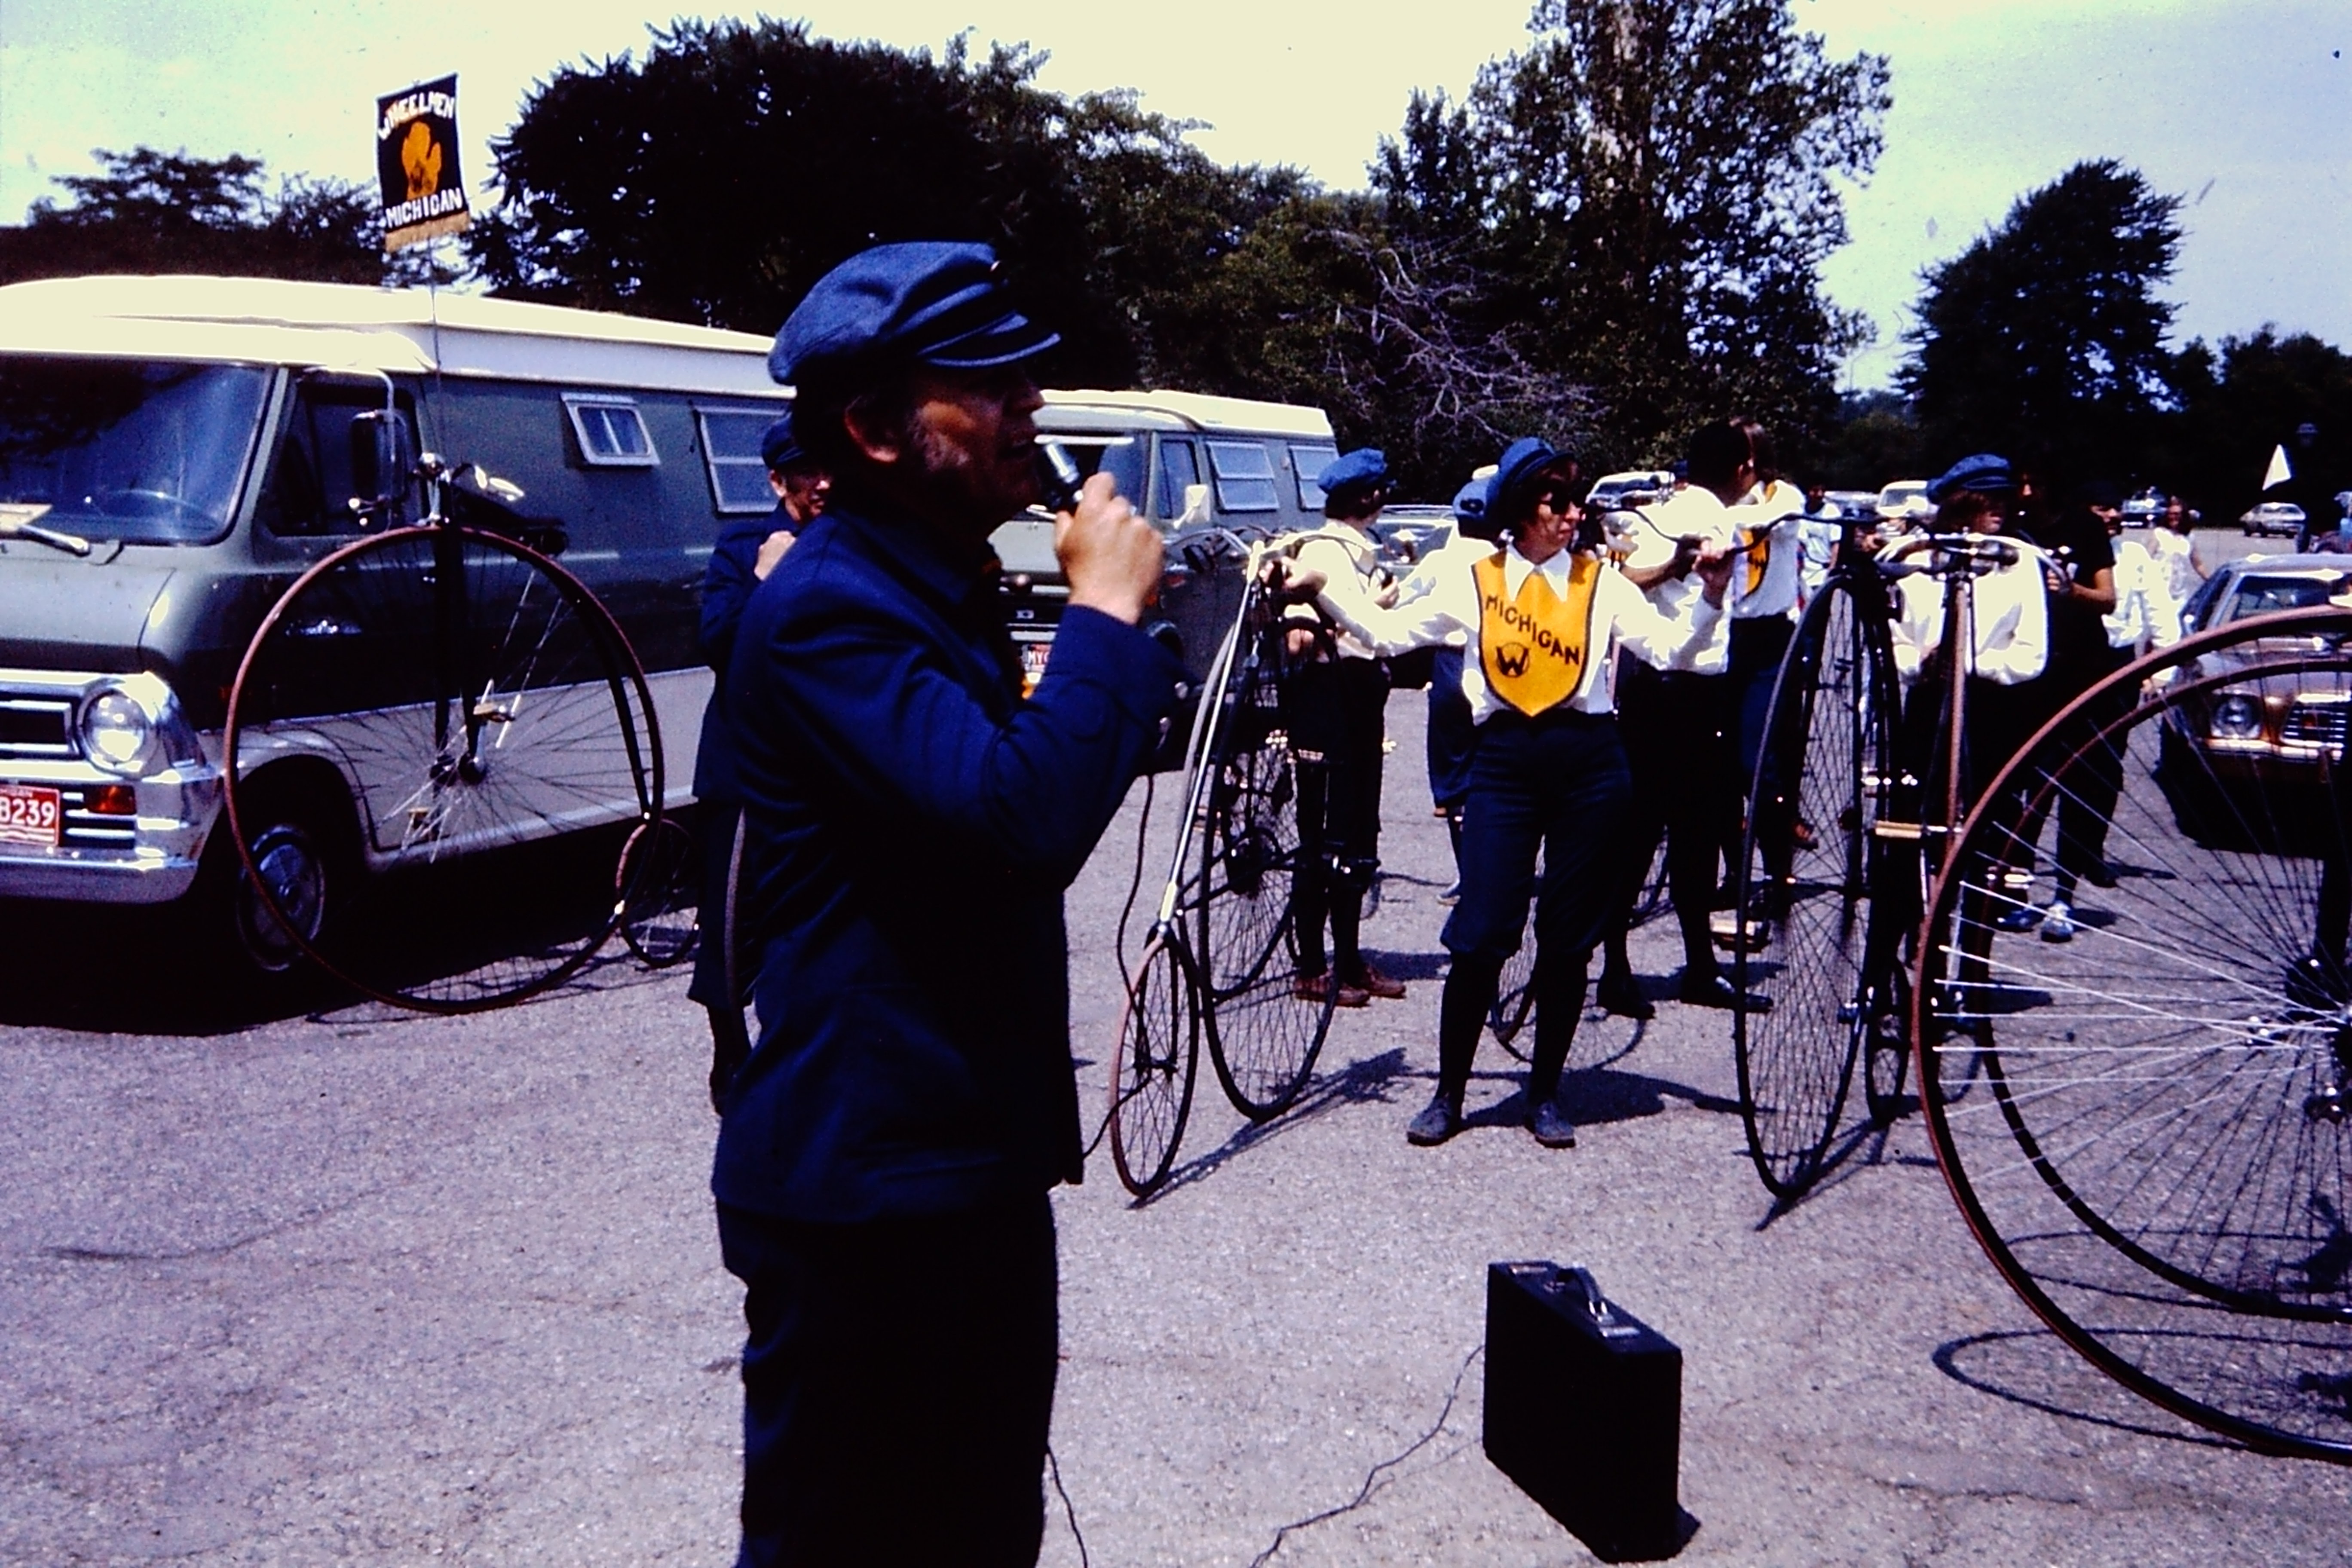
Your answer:
[[[1028,1568],[1054,1418],[1047,1194],[804,1225],[720,1204],[743,1281],[736,1568]]]

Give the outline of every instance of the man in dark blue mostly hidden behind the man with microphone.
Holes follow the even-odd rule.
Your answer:
[[[703,851],[701,947],[694,954],[694,985],[687,997],[710,1013],[710,1107],[722,1110],[727,1084],[750,1056],[750,1032],[743,1027],[743,999],[727,983],[727,867],[734,863],[734,830],[743,816],[736,790],[734,729],[720,693],[727,684],[727,661],[734,654],[736,623],[750,604],[750,590],[767,581],[783,552],[804,527],[826,510],[833,480],[809,461],[793,440],[793,416],[786,414],[760,440],[767,461],[767,484],[776,491],[776,510],[746,517],[720,529],[703,569],[703,661],[717,675],[710,703],[703,708],[703,738],[694,752],[694,830]]]

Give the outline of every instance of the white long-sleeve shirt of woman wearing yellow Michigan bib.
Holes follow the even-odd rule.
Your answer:
[[[1329,595],[1329,590],[1319,595],[1317,602],[1343,632],[1378,656],[1446,646],[1449,642],[1461,642],[1475,649],[1479,632],[1479,592],[1472,567],[1482,559],[1494,559],[1494,550],[1465,550],[1456,555],[1446,574],[1437,578],[1430,592],[1414,604],[1381,609],[1367,597],[1336,597]],[[1573,552],[1559,550],[1538,567],[1519,555],[1517,548],[1510,548],[1503,555],[1503,590],[1505,595],[1517,597],[1529,574],[1541,571],[1545,585],[1564,599],[1569,592],[1569,567],[1573,559]],[[1691,670],[1708,656],[1712,656],[1715,668],[1722,670],[1724,644],[1729,637],[1724,607],[1708,604],[1696,590],[1691,597],[1696,607],[1689,616],[1677,618],[1661,614],[1646,597],[1642,597],[1639,588],[1604,567],[1599,578],[1592,583],[1592,623],[1588,632],[1590,642],[1585,646],[1585,668],[1578,675],[1576,691],[1569,696],[1566,705],[1578,712],[1616,712],[1618,649],[1630,649],[1635,658],[1658,665],[1661,670]],[[1486,686],[1486,670],[1479,658],[1463,658],[1463,698],[1470,703],[1472,722],[1479,724],[1505,708],[1503,698]]]

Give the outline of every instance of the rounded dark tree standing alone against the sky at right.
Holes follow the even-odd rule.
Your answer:
[[[2079,162],[1929,268],[1900,369],[1929,451],[2004,451],[2053,482],[2140,468],[2171,400],[2157,289],[2178,212],[2136,169]]]

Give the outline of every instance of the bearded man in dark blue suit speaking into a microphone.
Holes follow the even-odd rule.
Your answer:
[[[760,1044],[720,1124],[743,1563],[1033,1563],[1080,1178],[1061,896],[1174,708],[1160,536],[1087,482],[1021,698],[988,534],[1040,494],[1056,336],[981,244],[882,244],[776,334],[826,515],[743,611],[739,914]]]

